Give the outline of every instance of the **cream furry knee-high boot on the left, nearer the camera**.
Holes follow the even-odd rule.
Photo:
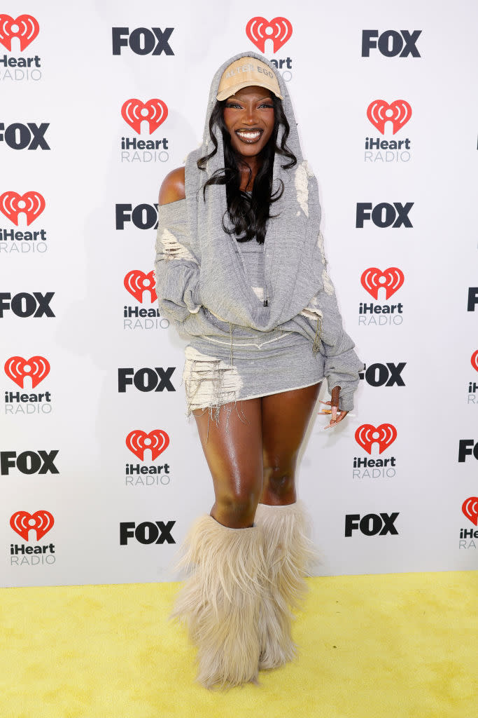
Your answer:
[[[198,647],[198,680],[206,688],[257,679],[265,580],[261,534],[258,526],[228,528],[201,516],[186,538],[178,568],[189,577],[171,617],[186,625]]]

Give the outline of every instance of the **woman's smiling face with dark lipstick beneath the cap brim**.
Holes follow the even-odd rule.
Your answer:
[[[255,157],[274,131],[272,93],[256,85],[237,90],[227,98],[223,116],[232,149],[244,159]]]

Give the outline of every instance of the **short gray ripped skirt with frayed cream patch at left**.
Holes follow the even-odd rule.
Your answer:
[[[259,343],[260,342],[260,343]],[[296,332],[257,332],[257,339],[223,342],[194,337],[186,347],[183,383],[187,414],[209,410],[219,421],[224,404],[304,388],[324,378],[323,357],[314,354],[309,339]],[[229,408],[231,409],[232,406]]]

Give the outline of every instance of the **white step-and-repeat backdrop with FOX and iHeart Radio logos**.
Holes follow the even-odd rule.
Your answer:
[[[478,567],[476,27],[471,0],[1,4],[1,584],[173,579],[209,513],[151,271],[161,182],[244,50],[290,88],[366,365],[302,452],[319,572]]]

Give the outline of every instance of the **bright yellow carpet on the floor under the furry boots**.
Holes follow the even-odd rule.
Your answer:
[[[475,718],[478,572],[310,579],[300,657],[194,682],[177,584],[2,589],[1,718]]]

